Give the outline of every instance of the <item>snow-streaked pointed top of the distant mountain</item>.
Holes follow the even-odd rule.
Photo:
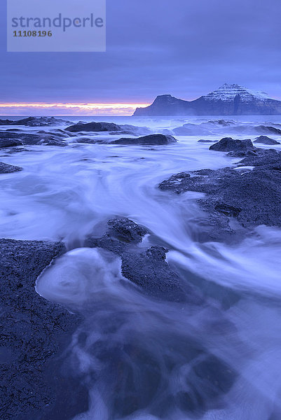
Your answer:
[[[207,101],[214,101],[217,102],[219,100],[230,102],[233,101],[235,96],[239,94],[242,102],[252,102],[254,99],[259,101],[264,101],[266,99],[270,99],[268,94],[265,92],[259,92],[252,89],[247,89],[247,87],[243,87],[237,84],[228,85],[224,83],[219,89],[214,90],[204,96]]]

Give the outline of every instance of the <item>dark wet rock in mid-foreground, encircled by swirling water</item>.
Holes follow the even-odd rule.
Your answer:
[[[146,229],[128,218],[108,222],[107,232],[101,238],[88,237],[85,246],[100,247],[116,253],[122,260],[122,274],[140,286],[144,293],[170,301],[201,302],[193,288],[181,288],[179,276],[165,261],[167,249],[162,246],[137,246]]]

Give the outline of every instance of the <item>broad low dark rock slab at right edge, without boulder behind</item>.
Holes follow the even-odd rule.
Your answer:
[[[242,164],[249,165],[248,159],[242,160]],[[248,172],[224,168],[207,169],[201,176],[177,178],[173,175],[160,183],[159,188],[177,194],[186,191],[205,193],[206,197],[198,203],[209,218],[201,223],[209,229],[210,239],[226,240],[235,234],[246,235],[257,225],[281,226],[280,158],[279,162],[280,165],[275,161],[274,165],[256,167]],[[238,222],[235,228],[231,219]]]

